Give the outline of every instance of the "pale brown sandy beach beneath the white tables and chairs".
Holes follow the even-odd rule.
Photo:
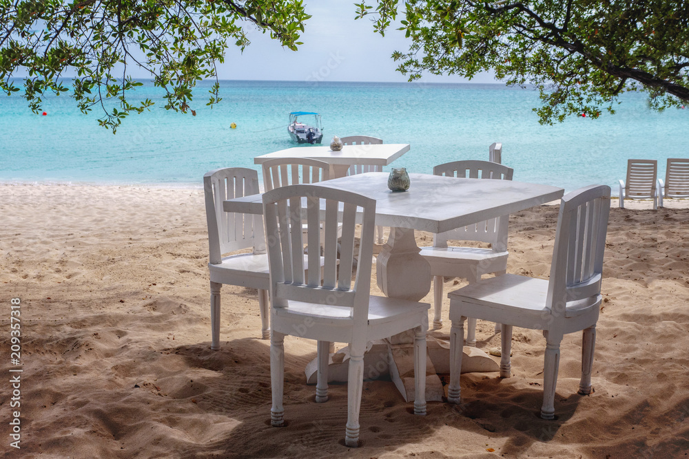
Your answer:
[[[689,203],[610,212],[590,396],[566,335],[556,420],[538,417],[545,340],[515,328],[513,376],[462,376],[462,404],[413,416],[366,381],[362,447],[344,446],[347,386],[316,404],[313,341],[285,339],[285,420],[270,427],[269,341],[255,290],[223,286],[210,350],[203,191],[0,184],[0,451],[16,458],[679,458],[689,455]],[[511,216],[508,272],[547,278],[557,206]],[[431,235],[417,233],[420,244]],[[376,251],[380,251],[377,246]],[[445,291],[464,285],[449,280]],[[373,283],[373,292],[380,291]],[[10,408],[10,299],[21,299],[21,407]],[[424,299],[432,302],[432,292]],[[433,337],[449,339],[444,326]],[[432,314],[432,312],[431,312]],[[432,317],[431,317],[432,323]],[[500,345],[481,322],[477,346]],[[444,378],[446,380],[446,378]],[[21,449],[10,447],[21,411]]]

